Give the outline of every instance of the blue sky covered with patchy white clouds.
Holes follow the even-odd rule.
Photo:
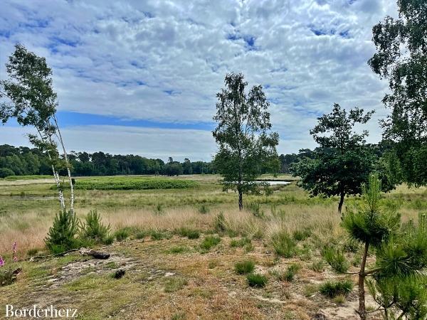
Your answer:
[[[385,80],[371,72],[371,28],[393,0],[2,0],[0,78],[16,43],[46,57],[73,151],[210,161],[216,93],[227,73],[263,85],[279,154],[316,146],[309,134],[334,102],[376,110]],[[0,127],[28,146],[30,128]]]

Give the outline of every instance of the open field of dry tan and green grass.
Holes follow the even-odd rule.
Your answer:
[[[144,177],[149,178],[158,177]],[[77,178],[77,183],[91,179],[97,178]],[[319,291],[328,279],[355,281],[322,260],[328,243],[345,244],[354,265],[359,257],[359,247],[339,227],[336,198],[308,198],[295,179],[279,176],[293,182],[273,186],[271,196],[246,196],[246,209],[239,212],[236,194],[223,193],[218,176],[178,179],[195,183],[175,189],[77,190],[80,217],[97,209],[125,236],[104,247],[112,254],[109,260],[76,253],[39,262],[10,262],[11,244],[18,242],[21,259],[43,254],[43,238],[58,209],[53,181],[0,181],[0,255],[23,267],[17,282],[0,288],[1,316],[7,302],[73,307],[80,319],[312,319],[316,314],[317,319],[320,314],[357,319],[356,286],[344,298]],[[347,198],[344,206],[357,201]],[[398,208],[403,220],[416,218],[427,211],[427,188],[399,186],[383,201]],[[278,246],[283,233],[293,245]],[[265,276],[264,287],[248,285],[249,260],[253,272]],[[245,262],[243,269],[236,262]],[[114,279],[119,268],[125,277]],[[371,299],[367,305],[375,307]]]

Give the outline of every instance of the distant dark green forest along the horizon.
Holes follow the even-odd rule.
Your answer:
[[[377,154],[382,150],[372,145]],[[278,157],[278,169],[276,173],[289,174],[292,164],[300,159],[314,159],[315,151],[300,149],[298,154],[280,154]],[[176,176],[181,174],[216,174],[212,162],[174,161],[172,157],[165,163],[162,159],[148,159],[144,156],[133,154],[106,154],[102,151],[89,154],[88,152],[74,152],[68,154],[72,164],[73,176],[116,176],[131,174],[159,174],[164,176]],[[264,173],[271,173],[265,169]],[[48,157],[39,149],[27,146],[0,145],[0,178],[6,176],[26,176],[33,174],[52,174],[52,168]],[[66,175],[65,168],[60,171]]]

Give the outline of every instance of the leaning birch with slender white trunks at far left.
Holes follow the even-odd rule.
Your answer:
[[[65,167],[70,182],[70,210],[73,212],[73,183],[70,176],[65,146],[56,119],[56,92],[52,86],[52,70],[48,67],[45,58],[29,52],[20,44],[15,46],[14,53],[6,63],[9,80],[0,81],[0,119],[5,124],[11,117],[22,126],[31,125],[38,134],[28,134],[34,145],[46,151],[51,159],[53,176],[58,186],[60,206],[65,209],[63,192],[60,188],[57,142],[63,147]],[[9,99],[5,101],[5,99]]]

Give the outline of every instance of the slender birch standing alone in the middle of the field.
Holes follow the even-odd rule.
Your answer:
[[[243,209],[243,193],[258,193],[259,176],[274,157],[279,136],[271,132],[269,103],[261,85],[253,86],[248,93],[241,73],[226,75],[225,88],[216,97],[218,126],[214,138],[218,153],[214,164],[223,176],[224,190],[238,192],[238,208]]]

